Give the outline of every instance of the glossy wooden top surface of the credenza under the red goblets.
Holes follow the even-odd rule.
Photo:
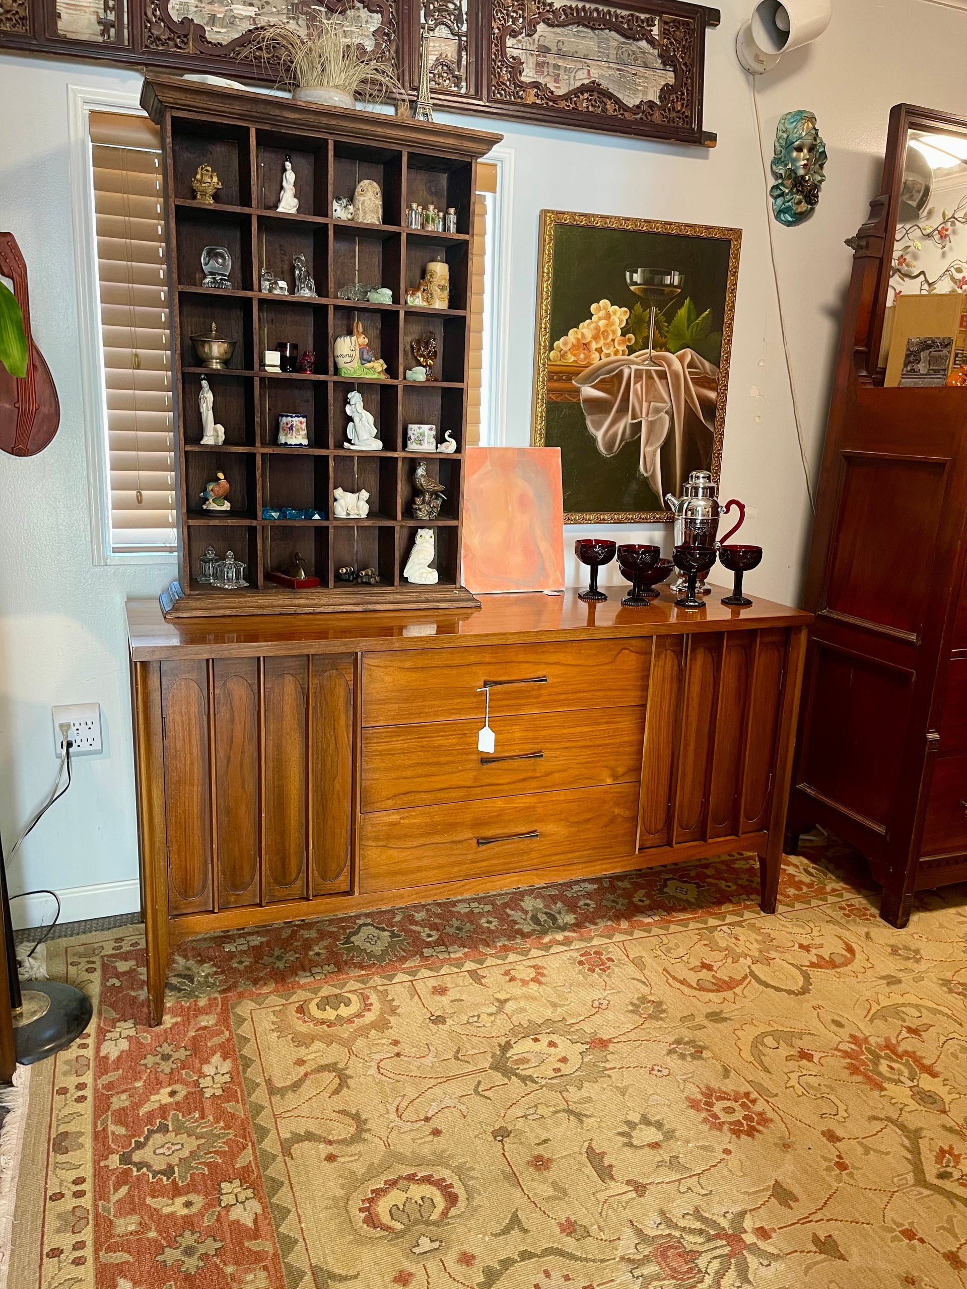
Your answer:
[[[677,608],[667,588],[647,608],[621,605],[612,586],[606,601],[585,603],[578,589],[560,596],[484,596],[472,610],[397,610],[362,614],[276,614],[272,616],[183,617],[166,621],[156,599],[129,599],[132,659],[245,657],[299,652],[441,648],[460,644],[540,643],[691,632],[761,630],[806,626],[812,615],[770,599],[749,608],[721,603],[728,592],[713,586],[701,608]]]

